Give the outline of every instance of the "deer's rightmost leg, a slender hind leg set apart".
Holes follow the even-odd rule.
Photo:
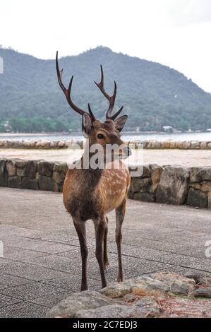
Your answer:
[[[123,281],[123,271],[122,271],[122,263],[121,263],[121,225],[123,223],[124,215],[126,212],[126,198],[124,198],[118,208],[116,208],[116,245],[117,245],[117,253],[118,253],[118,282]]]

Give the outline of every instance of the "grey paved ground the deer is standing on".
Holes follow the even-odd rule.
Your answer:
[[[80,289],[80,249],[61,194],[0,188],[0,316],[44,316],[48,308]],[[94,229],[88,222],[88,282],[100,289]],[[109,214],[107,280],[116,280],[114,213]],[[123,224],[125,277],[155,271],[211,272],[205,242],[211,213],[186,206],[128,201]]]

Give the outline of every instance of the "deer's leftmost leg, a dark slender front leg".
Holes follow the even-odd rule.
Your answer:
[[[87,261],[88,261],[88,246],[86,242],[86,231],[85,222],[81,220],[76,220],[73,218],[73,223],[78,234],[78,239],[80,242],[80,254],[82,263],[82,278],[80,291],[88,290],[88,280],[87,280]]]

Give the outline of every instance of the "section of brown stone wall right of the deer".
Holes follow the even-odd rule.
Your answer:
[[[142,176],[131,177],[129,198],[211,208],[211,167],[144,166]]]

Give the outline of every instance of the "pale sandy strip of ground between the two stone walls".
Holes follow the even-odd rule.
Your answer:
[[[0,149],[1,158],[44,159],[67,162],[73,150]],[[77,154],[78,156],[78,154]],[[79,158],[79,157],[78,157]],[[78,159],[77,158],[77,159]],[[131,162],[134,163],[134,162]],[[186,167],[211,167],[211,150],[143,150],[143,163],[157,165],[182,165]]]

